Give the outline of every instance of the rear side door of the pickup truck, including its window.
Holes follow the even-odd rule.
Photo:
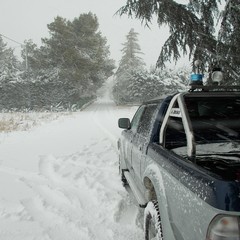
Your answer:
[[[152,128],[153,114],[157,104],[145,105],[141,118],[138,121],[136,132],[132,139],[132,171],[136,181],[141,181],[142,164],[146,157],[147,147],[150,141],[150,129]],[[141,185],[141,184],[140,184]]]

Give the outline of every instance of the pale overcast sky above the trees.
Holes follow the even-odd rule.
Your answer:
[[[139,33],[139,44],[147,66],[155,65],[160,49],[168,36],[166,29],[159,29],[154,22],[151,29],[141,25],[139,20],[127,16],[116,16],[115,12],[126,0],[0,0],[0,34],[24,42],[32,39],[38,46],[41,38],[49,37],[47,24],[56,16],[73,20],[81,13],[91,11],[99,20],[99,30],[108,40],[111,57],[119,63],[122,43],[131,28]],[[20,46],[3,39],[11,47]]]

